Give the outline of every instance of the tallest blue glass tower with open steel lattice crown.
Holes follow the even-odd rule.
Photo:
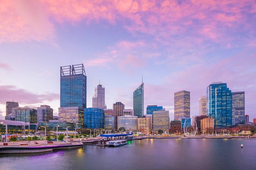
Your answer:
[[[61,67],[61,107],[86,108],[86,75],[83,64]]]

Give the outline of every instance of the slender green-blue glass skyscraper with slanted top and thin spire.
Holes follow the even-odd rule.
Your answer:
[[[144,114],[144,83],[133,92],[133,111],[134,116],[142,118]]]

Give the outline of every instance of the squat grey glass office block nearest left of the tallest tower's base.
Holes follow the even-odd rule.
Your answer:
[[[49,122],[53,120],[53,109],[48,105],[41,105],[37,108],[37,122]]]

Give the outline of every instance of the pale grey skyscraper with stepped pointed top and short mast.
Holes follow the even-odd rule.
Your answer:
[[[99,83],[97,87],[95,87],[95,94],[92,97],[92,107],[99,109],[107,109],[105,105],[105,87]]]

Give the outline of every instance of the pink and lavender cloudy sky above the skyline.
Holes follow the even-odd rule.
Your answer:
[[[174,93],[199,98],[222,81],[245,92],[245,114],[256,118],[255,0],[0,0],[0,119],[6,102],[49,105],[58,116],[60,67],[82,64],[87,107],[105,87],[108,109],[132,109],[144,83],[147,105],[174,119]]]

